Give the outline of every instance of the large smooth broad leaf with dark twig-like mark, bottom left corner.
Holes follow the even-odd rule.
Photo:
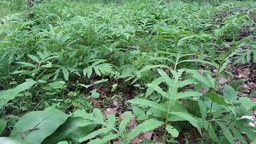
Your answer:
[[[53,107],[32,111],[22,116],[15,124],[10,136],[25,139],[29,142],[41,143],[46,137],[53,134],[58,126],[66,122],[67,118],[67,114]]]

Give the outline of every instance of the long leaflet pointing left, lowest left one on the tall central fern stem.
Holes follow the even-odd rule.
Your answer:
[[[162,110],[165,112],[167,111],[165,106],[162,106],[162,105],[158,104],[157,102],[148,101],[146,99],[136,98],[136,99],[131,99],[127,102],[129,102],[131,104],[141,105],[141,106],[154,107],[155,109]]]

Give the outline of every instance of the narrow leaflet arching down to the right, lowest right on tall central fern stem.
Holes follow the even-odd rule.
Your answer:
[[[202,130],[201,130],[199,124],[198,124],[198,120],[196,118],[194,118],[192,115],[186,114],[186,113],[183,113],[183,112],[174,112],[174,111],[170,111],[170,114],[174,114],[174,115],[177,115],[178,117],[186,119],[186,121],[190,122],[190,124],[192,126],[197,128],[199,134],[202,135]]]

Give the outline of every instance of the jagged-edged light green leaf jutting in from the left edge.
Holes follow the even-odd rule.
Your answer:
[[[21,92],[29,90],[36,83],[37,82],[34,82],[33,79],[26,79],[26,82],[19,84],[14,89],[0,91],[0,106],[5,105],[10,100],[13,100]]]

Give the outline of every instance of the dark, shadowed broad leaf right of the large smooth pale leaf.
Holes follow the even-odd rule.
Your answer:
[[[62,126],[47,137],[42,144],[57,143],[60,141],[77,140],[90,134],[97,125],[82,117],[69,117]]]

